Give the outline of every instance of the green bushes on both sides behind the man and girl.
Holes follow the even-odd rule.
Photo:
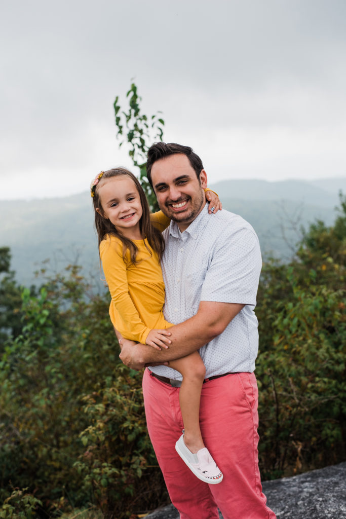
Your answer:
[[[295,253],[265,262],[258,292],[264,479],[346,459],[345,199]],[[0,271],[0,516],[134,519],[167,502],[109,295],[76,266],[22,291],[6,248]]]

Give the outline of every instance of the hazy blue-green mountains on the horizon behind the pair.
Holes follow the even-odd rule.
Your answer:
[[[272,252],[287,259],[301,225],[307,227],[316,218],[333,224],[338,192],[346,193],[346,177],[311,182],[228,180],[210,187],[225,209],[252,224],[264,255]],[[20,283],[31,284],[33,272],[47,258],[55,269],[76,262],[84,267],[85,275],[100,280],[89,192],[63,198],[3,200],[0,217],[0,246],[11,248],[12,269]]]

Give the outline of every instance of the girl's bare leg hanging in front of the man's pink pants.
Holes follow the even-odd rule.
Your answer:
[[[205,366],[198,351],[182,359],[170,361],[169,365],[183,375],[179,403],[185,428],[184,442],[188,449],[196,454],[204,447],[199,426],[199,406]]]

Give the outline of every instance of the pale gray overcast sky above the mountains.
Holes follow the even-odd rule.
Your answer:
[[[209,183],[346,176],[345,0],[4,0],[0,199],[132,169],[113,102],[131,78]]]

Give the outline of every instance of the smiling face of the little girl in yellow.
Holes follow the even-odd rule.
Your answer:
[[[133,180],[127,175],[101,179],[98,194],[103,209],[96,211],[108,218],[123,236],[140,240],[140,220],[143,214],[140,195]]]

